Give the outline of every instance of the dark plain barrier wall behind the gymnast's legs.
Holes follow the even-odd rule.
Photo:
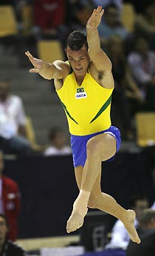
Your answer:
[[[103,163],[103,192],[125,208],[137,192],[145,192],[151,204],[155,198],[152,168],[148,152],[120,152],[113,162]],[[78,193],[72,156],[6,161],[4,175],[21,189],[19,238],[66,235],[66,221]]]

